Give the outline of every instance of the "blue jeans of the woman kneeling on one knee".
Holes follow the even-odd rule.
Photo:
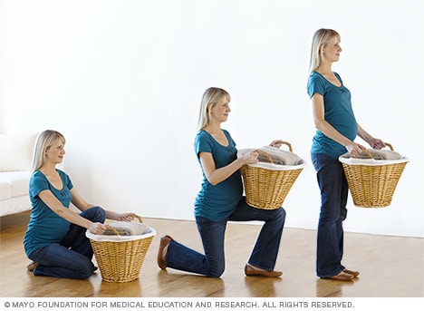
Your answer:
[[[226,267],[224,254],[226,223],[248,220],[265,221],[248,263],[265,270],[274,270],[284,228],[285,210],[255,209],[246,203],[245,197],[240,200],[236,210],[227,219],[212,221],[202,217],[196,218],[205,255],[171,240],[165,258],[167,266],[207,277],[221,277]]]

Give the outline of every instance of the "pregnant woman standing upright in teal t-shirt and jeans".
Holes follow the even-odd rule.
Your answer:
[[[313,35],[307,91],[313,104],[317,129],[311,156],[321,190],[321,213],[318,224],[316,272],[318,277],[350,281],[359,272],[342,266],[343,228],[346,219],[348,185],[339,156],[348,151],[361,154],[363,146],[353,142],[357,135],[372,148],[384,142],[373,138],[355,120],[351,92],[343,85],[332,63],[338,62],[341,37],[332,29],[319,29]]]

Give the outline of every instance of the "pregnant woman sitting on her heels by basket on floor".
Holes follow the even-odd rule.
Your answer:
[[[27,269],[35,276],[87,278],[96,269],[86,229],[102,234],[106,218],[133,219],[133,213],[115,213],[87,203],[71,179],[56,169],[62,163],[65,139],[58,131],[43,131],[37,138],[33,174],[29,185],[31,219],[24,236],[26,256],[34,262]],[[69,209],[70,203],[80,209]]]

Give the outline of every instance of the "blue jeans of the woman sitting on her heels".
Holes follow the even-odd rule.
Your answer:
[[[80,214],[84,219],[103,223],[106,212],[100,207],[86,209]],[[34,276],[67,277],[83,279],[94,271],[92,264],[92,246],[85,237],[85,228],[71,224],[61,243],[53,243],[38,248],[30,259],[38,263]]]

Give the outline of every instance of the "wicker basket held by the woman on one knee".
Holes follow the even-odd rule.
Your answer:
[[[292,152],[292,145],[286,144]],[[244,165],[240,170],[245,186],[246,202],[256,209],[278,209],[292,189],[294,181],[304,169],[304,162],[298,165],[276,165],[268,156],[270,163]]]

